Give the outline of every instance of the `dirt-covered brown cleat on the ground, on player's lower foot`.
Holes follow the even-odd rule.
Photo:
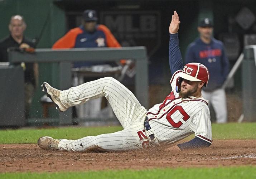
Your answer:
[[[58,150],[59,140],[52,137],[40,137],[37,141],[37,145],[44,150]]]

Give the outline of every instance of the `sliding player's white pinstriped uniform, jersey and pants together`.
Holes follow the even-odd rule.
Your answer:
[[[175,89],[174,81],[176,85],[177,76],[174,75],[172,79],[172,88]],[[101,78],[61,91],[60,99],[64,105],[69,107],[105,96],[124,130],[112,134],[87,136],[78,140],[62,139],[58,147],[61,150],[68,151],[142,149],[147,144],[144,142],[148,142],[149,140],[144,130],[146,115],[149,117],[149,124],[157,139],[153,141],[153,145],[172,143],[187,137],[193,132],[199,138],[211,142],[211,122],[206,100],[203,98],[197,98],[195,100],[185,98],[184,101],[190,101],[184,103],[178,97],[178,93],[174,90],[173,93],[177,98],[169,100],[170,96],[167,96],[163,104],[155,105],[147,111],[140,105],[139,101],[129,89],[111,77]],[[173,102],[175,102],[175,105],[173,105]],[[189,115],[189,119],[184,122],[182,121],[183,116],[181,113],[175,111],[172,114],[171,117],[175,122],[180,120],[184,123],[178,128],[173,127],[166,119],[166,116],[168,116],[167,113],[173,111],[172,109],[175,106],[182,106]],[[180,110],[180,107],[178,108]]]

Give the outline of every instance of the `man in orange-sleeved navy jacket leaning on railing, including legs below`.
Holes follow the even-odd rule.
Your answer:
[[[52,46],[52,49],[65,49],[65,48],[101,48],[101,47],[113,47],[120,48],[121,45],[116,40],[114,35],[111,33],[103,24],[97,24],[98,17],[95,10],[87,9],[83,11],[82,24],[79,27],[69,30],[62,38],[57,40]],[[126,60],[121,59],[122,65],[126,64]],[[92,67],[102,64],[112,64],[111,62],[74,62],[73,68]],[[83,82],[93,81],[98,79],[97,77],[86,77],[84,76]],[[75,78],[73,79],[74,86],[78,85]],[[98,106],[106,103],[107,101],[102,98],[97,101],[89,102],[86,104],[87,108],[93,108],[91,112],[94,115],[100,113],[101,110]],[[106,104],[105,104],[106,105]],[[74,112],[74,111],[73,111]],[[74,115],[77,115],[74,112]],[[85,114],[84,114],[85,115]]]

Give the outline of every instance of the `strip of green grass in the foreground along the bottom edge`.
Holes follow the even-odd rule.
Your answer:
[[[255,166],[225,167],[225,168],[176,168],[176,169],[150,169],[150,170],[105,170],[87,172],[62,172],[62,173],[5,173],[0,174],[1,179],[84,179],[84,178],[168,178],[168,179],[251,179],[256,178]]]

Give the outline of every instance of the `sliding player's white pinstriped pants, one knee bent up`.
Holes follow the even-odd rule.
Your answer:
[[[60,100],[64,105],[71,107],[103,96],[110,103],[124,130],[77,140],[62,139],[58,145],[59,149],[118,151],[143,148],[143,140],[137,132],[144,130],[147,110],[140,105],[132,92],[116,79],[105,77],[61,91]]]

